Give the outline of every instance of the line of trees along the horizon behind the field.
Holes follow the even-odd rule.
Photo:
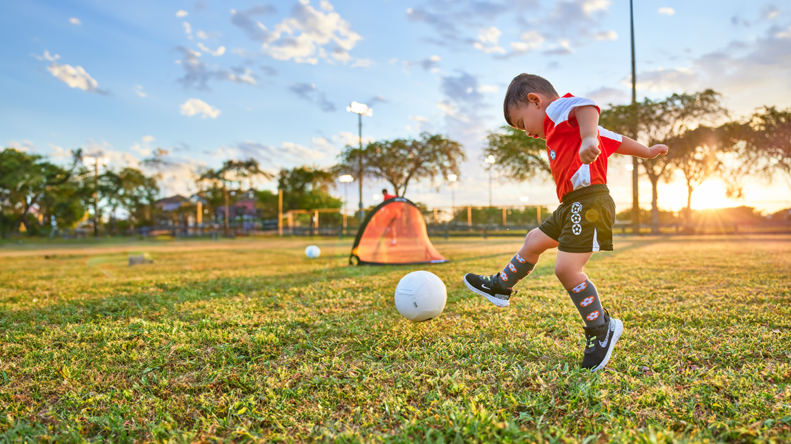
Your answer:
[[[619,134],[629,134],[630,105],[610,105],[601,112],[600,124]],[[691,196],[707,179],[719,178],[729,196],[744,193],[744,179],[759,177],[771,182],[782,176],[791,185],[791,107],[762,107],[746,119],[729,120],[721,94],[711,89],[693,94],[672,94],[664,100],[645,98],[638,103],[638,141],[646,145],[664,143],[667,156],[640,159],[642,172],[652,186],[651,224],[657,228],[661,213],[657,204],[660,181],[681,179],[687,187],[683,217],[691,223]],[[483,156],[494,156],[494,167],[502,178],[513,182],[551,179],[546,145],[509,126],[490,131]],[[172,164],[167,151],[157,149],[142,166],[157,171],[146,175],[134,167],[104,168],[97,175],[85,165],[82,149],[75,149],[70,164],[58,165],[45,156],[5,149],[0,152],[0,235],[26,231],[47,235],[74,227],[90,216],[94,226],[108,218],[104,231],[119,234],[152,225],[157,213],[154,203],[160,193],[158,179]],[[394,194],[403,197],[418,181],[432,185],[459,175],[467,155],[459,142],[441,134],[422,133],[418,138],[373,141],[362,149],[346,145],[338,163],[327,169],[302,166],[278,173],[278,189],[284,190],[286,209],[302,206],[339,208],[332,198],[339,175],[388,182]],[[226,160],[216,169],[194,172],[196,196],[206,200],[207,211],[222,208],[222,225],[229,231],[229,207],[248,193],[259,201],[262,213],[272,216],[277,195],[255,190],[256,179],[274,179],[258,161]],[[234,189],[233,184],[237,186]],[[244,190],[246,183],[247,190]],[[319,206],[317,206],[319,205]],[[266,208],[264,208],[266,207]],[[126,219],[119,220],[121,210]]]

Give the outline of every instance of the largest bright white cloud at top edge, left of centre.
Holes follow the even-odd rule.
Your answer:
[[[351,29],[349,22],[336,13],[330,2],[322,0],[320,10],[301,0],[294,6],[292,15],[270,30],[250,13],[231,10],[231,21],[243,28],[250,38],[261,42],[261,49],[277,60],[316,65],[320,59],[327,62],[350,62],[347,54],[362,39]],[[255,13],[263,13],[255,9]],[[327,46],[327,48],[325,48]],[[331,55],[331,57],[330,57]],[[362,66],[362,65],[358,65]]]

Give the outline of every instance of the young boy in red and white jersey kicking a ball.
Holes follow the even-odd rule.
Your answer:
[[[581,367],[597,371],[607,365],[623,332],[623,322],[610,318],[596,286],[582,272],[594,251],[612,250],[615,203],[607,189],[607,157],[614,152],[653,159],[668,152],[651,148],[599,125],[600,109],[592,100],[571,94],[559,97],[549,81],[535,74],[514,77],[503,103],[505,122],[530,137],[547,141],[552,178],[560,206],[528,233],[524,244],[500,273],[467,273],[464,284],[498,307],[508,307],[513,286],[528,276],[539,256],[558,247],[554,274],[569,292],[585,322],[585,355]]]

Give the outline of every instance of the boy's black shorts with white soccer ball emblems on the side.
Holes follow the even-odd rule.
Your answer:
[[[607,185],[585,186],[563,196],[563,202],[539,229],[569,253],[612,251],[615,202]]]

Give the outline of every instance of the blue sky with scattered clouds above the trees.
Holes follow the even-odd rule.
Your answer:
[[[357,116],[346,112],[356,100],[373,107],[365,141],[422,130],[461,141],[469,160],[456,202],[483,205],[480,152],[486,131],[505,123],[502,96],[517,73],[602,106],[630,98],[624,0],[28,0],[0,12],[0,143],[58,159],[84,147],[112,166],[165,149],[175,165],[167,194],[190,192],[191,171],[233,157],[272,171],[331,165],[356,143]],[[714,88],[734,117],[791,104],[788,2],[645,0],[635,23],[638,97]],[[625,163],[614,157],[609,175],[622,208]],[[381,185],[366,182],[366,205]],[[407,197],[448,205],[447,186],[436,185],[411,185]],[[679,193],[663,184],[660,206],[677,209]],[[718,193],[707,184],[698,206],[742,203]],[[495,180],[493,194],[495,205],[520,196],[557,205],[546,182]],[[647,206],[647,179],[641,195]],[[789,200],[782,179],[747,187],[747,203],[762,209]]]

